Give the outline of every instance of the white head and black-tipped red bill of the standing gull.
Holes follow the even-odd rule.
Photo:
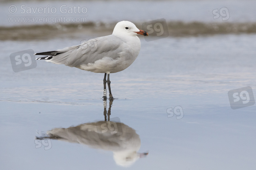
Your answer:
[[[122,37],[122,36],[136,36],[136,35],[145,35],[148,36],[146,31],[139,30],[134,23],[130,21],[120,21],[116,24],[114,30],[113,30],[113,35],[117,37]]]

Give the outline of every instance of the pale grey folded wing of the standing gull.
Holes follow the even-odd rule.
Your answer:
[[[103,57],[116,59],[120,56],[119,53],[122,52],[123,45],[124,41],[114,35],[99,37],[88,40],[75,49],[60,53],[51,58],[51,60],[47,60],[47,62],[79,67],[81,64],[94,63]],[[66,50],[66,48],[62,50]]]

